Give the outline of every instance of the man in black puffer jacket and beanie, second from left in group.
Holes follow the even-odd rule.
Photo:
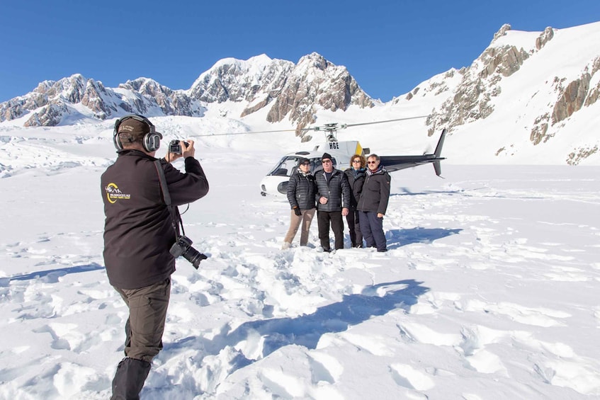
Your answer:
[[[323,251],[331,251],[329,224],[335,237],[335,248],[344,248],[344,220],[350,207],[350,185],[346,174],[333,166],[332,156],[321,157],[322,171],[315,173],[317,181],[317,224]]]

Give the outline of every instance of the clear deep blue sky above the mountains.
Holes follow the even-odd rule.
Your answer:
[[[173,89],[225,57],[318,52],[389,101],[468,66],[504,23],[541,31],[600,21],[599,0],[10,1],[0,13],[0,102],[72,74]]]

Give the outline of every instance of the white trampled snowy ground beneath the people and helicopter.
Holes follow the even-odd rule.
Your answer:
[[[28,168],[12,151],[0,179],[1,399],[107,399],[123,356],[106,159],[79,153]],[[395,172],[390,251],[329,254],[280,250],[289,206],[259,195],[280,155],[201,153],[210,193],[183,221],[210,258],[177,263],[143,399],[600,396],[600,167]]]

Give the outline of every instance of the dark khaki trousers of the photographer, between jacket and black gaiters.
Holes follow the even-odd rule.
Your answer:
[[[129,308],[125,324],[125,355],[152,362],[162,350],[166,308],[171,296],[171,278],[140,289],[115,287]]]

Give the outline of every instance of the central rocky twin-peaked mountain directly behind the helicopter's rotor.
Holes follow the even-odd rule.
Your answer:
[[[298,135],[315,122],[317,106],[332,111],[351,104],[373,106],[345,67],[317,53],[302,57],[297,65],[265,55],[247,61],[223,59],[200,75],[190,94],[207,103],[247,101],[242,117],[270,106],[266,120],[279,122],[287,116]]]

